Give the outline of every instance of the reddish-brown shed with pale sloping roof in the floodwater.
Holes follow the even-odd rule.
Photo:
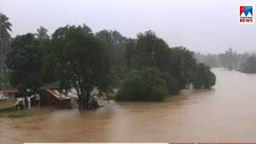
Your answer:
[[[62,94],[57,89],[39,90],[42,106],[52,106],[63,109],[72,109],[77,107],[78,95],[74,90]]]

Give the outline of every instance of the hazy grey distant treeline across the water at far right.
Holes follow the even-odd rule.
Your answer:
[[[228,70],[238,70],[244,73],[256,73],[256,54],[238,54],[231,48],[221,54],[195,53],[198,62],[210,67],[224,67]]]

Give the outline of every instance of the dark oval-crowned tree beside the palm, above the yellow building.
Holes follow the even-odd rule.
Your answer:
[[[39,41],[34,34],[20,35],[14,38],[10,52],[6,55],[6,66],[10,84],[26,94],[35,92],[42,85],[40,78],[41,56]]]

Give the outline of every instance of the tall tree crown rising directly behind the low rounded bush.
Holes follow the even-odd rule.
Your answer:
[[[161,71],[170,71],[173,64],[169,46],[153,31],[138,34],[138,39],[130,39],[126,47],[129,69],[151,66]]]

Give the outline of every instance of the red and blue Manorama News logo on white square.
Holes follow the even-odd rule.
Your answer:
[[[241,24],[254,24],[254,6],[242,5],[239,7],[238,23]]]

